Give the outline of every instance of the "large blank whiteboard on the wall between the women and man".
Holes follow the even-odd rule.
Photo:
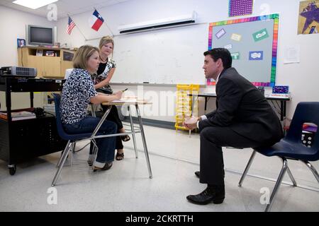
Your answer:
[[[206,84],[207,37],[207,23],[118,35],[112,83]]]

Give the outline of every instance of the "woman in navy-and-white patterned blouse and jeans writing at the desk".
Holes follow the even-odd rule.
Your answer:
[[[122,92],[115,95],[97,93],[91,81],[91,74],[99,67],[99,49],[84,45],[78,49],[73,59],[73,71],[63,85],[61,97],[61,118],[67,133],[92,133],[100,119],[86,115],[89,103],[101,104],[121,99]],[[112,121],[104,121],[98,134],[116,133],[117,126]],[[96,139],[98,153],[94,161],[94,171],[107,170],[114,160],[116,138]],[[92,148],[92,145],[91,145]]]

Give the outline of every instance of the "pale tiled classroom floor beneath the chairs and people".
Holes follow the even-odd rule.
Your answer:
[[[18,165],[9,175],[6,162],[0,161],[0,211],[263,211],[262,188],[272,191],[274,182],[247,176],[237,184],[252,150],[224,149],[226,198],[223,204],[196,206],[186,201],[206,186],[199,184],[194,171],[199,166],[199,136],[145,126],[153,178],[148,176],[145,155],[135,158],[133,143],[125,143],[125,159],[115,161],[106,172],[92,172],[86,162],[88,148],[74,155],[73,167],[65,167],[57,182],[57,204],[49,205],[55,165],[60,153],[39,157]],[[81,147],[84,143],[79,143]],[[138,149],[142,141],[138,135]],[[68,160],[69,161],[69,160]],[[69,163],[69,162],[67,162]],[[319,169],[318,162],[314,162]],[[318,211],[319,186],[301,162],[289,162],[291,172],[301,186],[283,184],[273,211]],[[276,157],[257,155],[249,174],[275,179],[281,162]],[[289,178],[284,179],[289,182]]]

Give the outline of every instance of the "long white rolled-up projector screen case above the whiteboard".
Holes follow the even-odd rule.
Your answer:
[[[172,18],[164,18],[160,20],[150,20],[142,23],[134,23],[130,25],[121,25],[118,27],[120,34],[142,32],[147,30],[157,30],[163,28],[172,28],[181,25],[189,25],[196,22],[196,12],[189,15],[176,16]]]

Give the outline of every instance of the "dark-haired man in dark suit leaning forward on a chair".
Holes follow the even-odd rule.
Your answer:
[[[272,145],[283,137],[279,118],[264,95],[232,66],[227,49],[204,52],[206,78],[216,81],[216,110],[198,117],[196,124],[201,137],[201,184],[208,184],[200,194],[186,198],[192,203],[223,203],[225,198],[222,147],[255,148]]]

